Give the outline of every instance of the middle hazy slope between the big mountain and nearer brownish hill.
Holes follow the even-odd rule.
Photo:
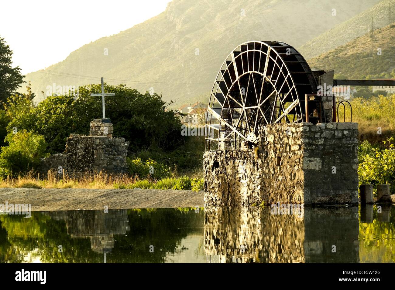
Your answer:
[[[342,12],[339,11],[338,13]],[[311,39],[299,47],[298,50],[306,59],[313,58],[371,32],[372,27],[375,30],[389,25],[393,21],[395,21],[395,0],[383,0],[320,36]]]

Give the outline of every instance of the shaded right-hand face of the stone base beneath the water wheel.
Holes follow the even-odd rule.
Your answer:
[[[305,203],[358,202],[358,124],[307,126],[303,140]]]

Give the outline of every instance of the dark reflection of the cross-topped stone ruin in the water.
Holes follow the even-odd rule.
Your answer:
[[[115,235],[129,231],[127,210],[75,210],[48,213],[52,219],[64,220],[72,238],[90,238],[90,248],[96,253],[111,253]]]

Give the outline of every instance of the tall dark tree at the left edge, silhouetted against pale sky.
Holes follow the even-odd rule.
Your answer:
[[[24,75],[19,67],[11,67],[13,52],[4,38],[0,37],[0,108],[6,99],[21,87]]]

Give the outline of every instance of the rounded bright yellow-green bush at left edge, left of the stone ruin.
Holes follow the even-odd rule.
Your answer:
[[[11,173],[16,176],[40,165],[40,159],[48,156],[47,143],[44,137],[27,131],[16,134],[9,133],[6,137],[8,146],[3,146],[0,153],[0,175]]]

